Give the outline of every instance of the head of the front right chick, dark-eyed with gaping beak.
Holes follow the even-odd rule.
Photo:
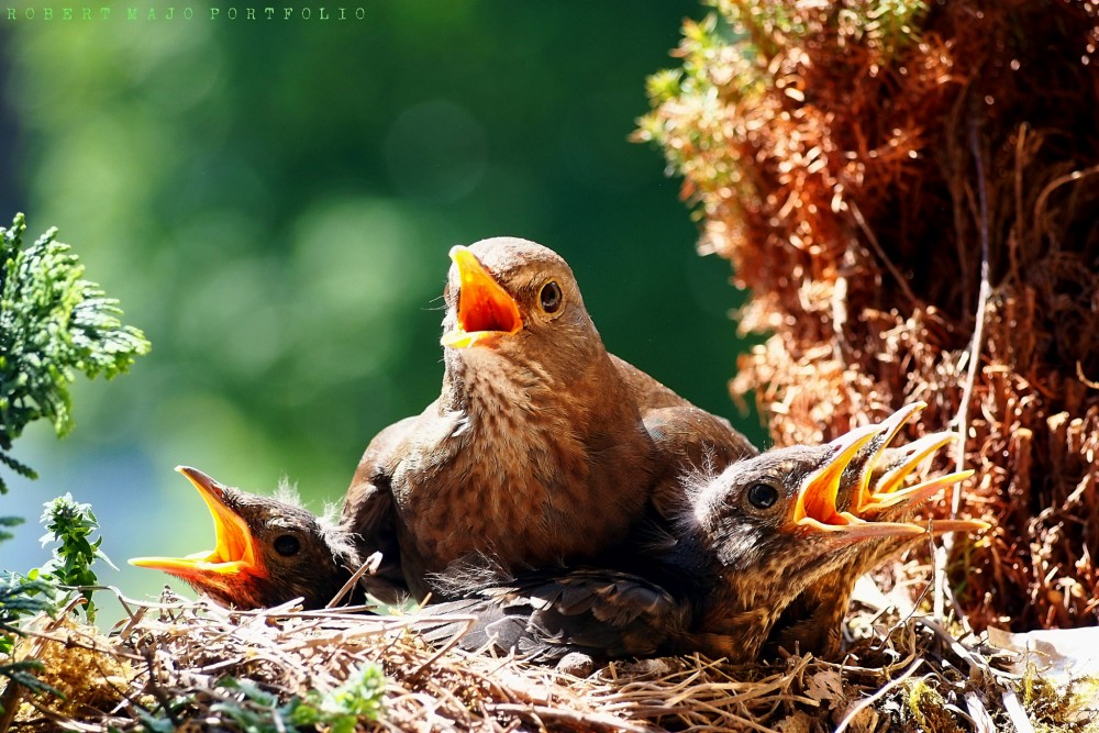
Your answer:
[[[839,497],[856,496],[864,468],[873,473],[897,430],[896,421],[886,421],[825,445],[779,448],[736,462],[693,489],[687,531],[722,567],[736,571],[782,563],[791,569],[831,567],[867,540],[987,529],[976,520],[941,521],[930,527],[877,521],[836,506]],[[900,460],[893,468],[901,465],[908,464]],[[918,503],[970,473],[902,490],[897,504]]]

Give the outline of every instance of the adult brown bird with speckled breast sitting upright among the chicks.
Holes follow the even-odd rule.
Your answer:
[[[344,503],[364,554],[386,558],[375,596],[423,598],[478,556],[506,570],[604,559],[675,503],[685,471],[756,453],[608,354],[553,251],[498,237],[451,259],[442,393],[370,442]]]

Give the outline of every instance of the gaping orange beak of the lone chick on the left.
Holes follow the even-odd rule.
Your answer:
[[[266,576],[248,525],[225,503],[224,487],[197,468],[177,466],[176,470],[190,480],[210,508],[217,544],[212,551],[186,557],[135,557],[130,564],[164,570],[201,587],[224,587],[241,574]]]

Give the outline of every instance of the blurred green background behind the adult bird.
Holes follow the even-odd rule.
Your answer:
[[[695,253],[659,152],[626,142],[695,2],[190,7],[0,20],[0,218],[60,226],[153,342],[130,375],[77,386],[69,438],[27,432],[42,479],[0,513],[33,522],[73,491],[123,562],[211,542],[177,464],[338,501],[369,438],[437,395],[448,248],[500,234],[569,260],[612,352],[762,440],[726,391],[729,265]],[[0,566],[44,560],[16,532]],[[102,579],[142,597],[167,578]]]

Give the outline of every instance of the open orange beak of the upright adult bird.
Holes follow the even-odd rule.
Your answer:
[[[460,244],[451,248],[451,259],[458,268],[458,323],[443,334],[441,343],[448,348],[488,345],[500,336],[523,329],[519,304],[477,256]]]

